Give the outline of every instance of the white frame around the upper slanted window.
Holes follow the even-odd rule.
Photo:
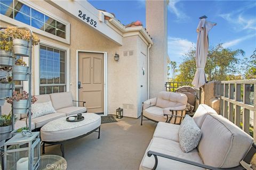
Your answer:
[[[32,27],[31,25],[27,25],[26,23],[20,22],[18,20],[12,19],[12,18],[10,18],[8,16],[5,16],[3,14],[0,14],[2,21],[10,23],[10,24],[13,24],[13,25],[16,25],[18,27],[29,27],[33,32],[36,32],[39,35],[42,35],[42,36],[45,36],[45,37],[49,37],[49,38],[52,38],[52,39],[55,39],[55,40],[58,40],[58,41],[61,41],[62,43],[70,44],[70,23],[68,21],[59,18],[58,16],[56,16],[56,15],[46,11],[44,8],[38,6],[38,5],[36,5],[36,4],[34,4],[34,3],[30,2],[30,1],[23,1],[23,0],[17,0],[17,1],[21,2],[22,4],[25,4],[25,5],[29,6],[31,8],[34,8],[38,12],[41,12],[41,13],[51,17],[52,19],[54,19],[56,21],[59,21],[59,22],[65,24],[66,25],[66,39],[65,38],[61,38],[59,36],[55,36],[55,35],[53,35],[53,34],[51,34],[49,32],[46,32],[44,30]]]

